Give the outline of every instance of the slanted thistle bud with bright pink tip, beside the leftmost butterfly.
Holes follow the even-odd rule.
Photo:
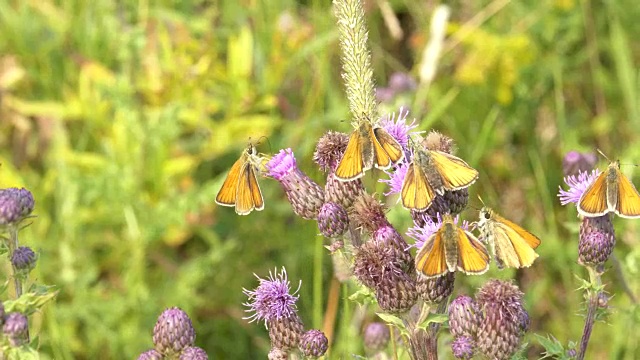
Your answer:
[[[280,150],[266,168],[269,176],[282,185],[296,215],[315,219],[324,204],[324,190],[298,168],[291,149]]]

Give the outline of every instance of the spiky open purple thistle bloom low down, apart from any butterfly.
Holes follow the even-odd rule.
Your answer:
[[[253,312],[251,316],[244,319],[248,319],[249,322],[264,320],[266,326],[270,320],[290,318],[297,315],[296,301],[298,301],[299,296],[296,294],[300,290],[302,281],[298,285],[298,289],[293,294],[290,294],[290,283],[284,267],[279,274],[277,269],[274,272],[269,271],[269,277],[266,279],[262,279],[258,275],[255,275],[255,277],[260,281],[260,285],[253,291],[247,289],[242,291],[249,297],[249,301],[243,304],[249,308],[245,311]]]

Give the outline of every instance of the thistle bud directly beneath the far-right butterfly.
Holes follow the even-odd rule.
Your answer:
[[[611,256],[616,244],[615,231],[609,215],[585,217],[580,224],[578,262],[600,265]]]

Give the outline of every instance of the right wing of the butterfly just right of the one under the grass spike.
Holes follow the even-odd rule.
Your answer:
[[[478,171],[458,157],[431,151],[431,160],[447,190],[467,188],[478,179]]]

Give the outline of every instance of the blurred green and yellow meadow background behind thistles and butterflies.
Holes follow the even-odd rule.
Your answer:
[[[387,5],[399,38],[384,20]],[[417,78],[437,5],[367,2],[379,86],[393,72]],[[489,277],[516,278],[531,332],[577,341],[586,272],[575,207],[556,197],[561,161],[569,150],[599,148],[640,164],[640,7],[449,5],[435,80],[384,109],[408,105],[421,130],[452,136],[481,173],[472,205],[482,194],[543,241],[532,268],[458,277],[455,294],[473,294]],[[34,193],[37,218],[21,233],[40,252],[32,279],[60,289],[31,323],[43,358],[135,358],[153,346],[169,306],[190,314],[210,358],[266,358],[264,326],[242,319],[242,288],[282,265],[293,284],[302,280],[306,327],[322,327],[333,270],[316,224],[293,215],[274,181],[262,181],[265,210],[246,217],[213,199],[247,141],[262,136],[260,151],[291,147],[324,183],[311,161],[315,142],[329,129],[351,131],[337,37],[326,0],[0,1],[0,187]],[[635,167],[623,171],[640,184]],[[367,175],[370,191],[385,191],[379,176]],[[410,226],[399,205],[389,216],[401,232]],[[615,226],[619,261],[604,277],[613,315],[596,324],[588,358],[640,357],[632,330],[640,310],[621,278],[640,294],[640,228]],[[354,290],[342,289],[340,298]],[[340,306],[331,357],[362,355],[345,325],[354,305]],[[529,357],[539,357],[536,337],[527,340]]]

